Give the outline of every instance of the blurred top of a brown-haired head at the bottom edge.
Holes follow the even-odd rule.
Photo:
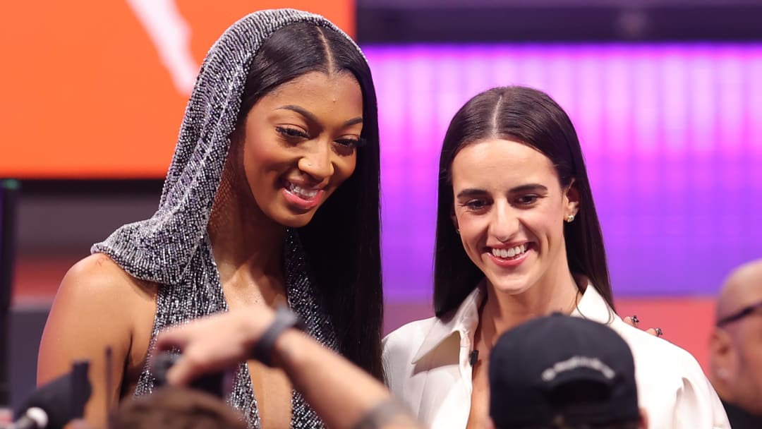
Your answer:
[[[242,415],[225,402],[193,389],[162,387],[127,399],[110,416],[109,429],[245,429]]]

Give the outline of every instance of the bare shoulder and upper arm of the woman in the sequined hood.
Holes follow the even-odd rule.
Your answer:
[[[89,360],[93,391],[85,420],[104,425],[107,410],[119,401],[134,325],[145,319],[137,317],[137,307],[149,308],[150,299],[104,255],[91,255],[75,264],[62,280],[48,315],[40,342],[37,385],[68,373],[75,360]],[[108,367],[107,347],[112,350]]]

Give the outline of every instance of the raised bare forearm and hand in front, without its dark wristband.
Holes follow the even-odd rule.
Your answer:
[[[179,347],[183,355],[167,377],[183,385],[202,373],[222,370],[251,356],[274,319],[270,309],[240,309],[213,315],[159,335],[157,347]],[[421,427],[383,384],[344,357],[296,329],[275,342],[273,361],[328,427],[402,429]]]

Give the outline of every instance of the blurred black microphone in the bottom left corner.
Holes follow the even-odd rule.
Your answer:
[[[16,415],[11,429],[63,429],[69,421],[82,418],[92,386],[88,379],[89,362],[77,362],[72,372],[37,389]]]

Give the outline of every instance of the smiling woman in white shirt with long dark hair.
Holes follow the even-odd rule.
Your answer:
[[[392,332],[383,351],[392,393],[430,427],[485,427],[491,347],[555,311],[623,336],[649,427],[729,427],[696,360],[614,312],[579,140],[543,92],[493,88],[453,117],[440,155],[434,310]]]

